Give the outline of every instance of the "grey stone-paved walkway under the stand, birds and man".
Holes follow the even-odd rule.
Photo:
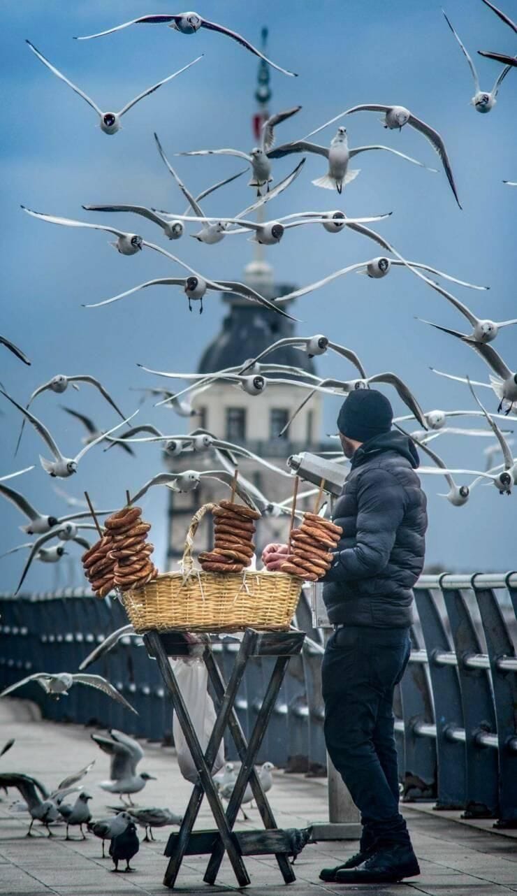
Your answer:
[[[108,778],[108,756],[90,740],[90,731],[76,725],[57,725],[40,720],[30,703],[4,700],[0,702],[2,743],[15,737],[16,743],[0,758],[0,771],[25,771],[55,786],[59,780],[82,768],[92,759],[94,769],[84,780],[94,796],[92,813],[108,814],[107,806],[116,799],[97,787]],[[185,809],[191,785],[182,779],[172,749],[159,745],[145,746],[142,770],[156,775],[138,795],[141,806],[169,806],[181,813]],[[56,827],[51,840],[38,824],[38,836],[25,839],[27,815],[14,812],[10,806],[17,792],[0,802],[0,893],[2,896],[144,896],[167,893],[162,885],[167,859],[163,856],[168,831],[156,831],[159,842],[142,843],[134,857],[134,874],[110,874],[111,861],[100,858],[100,841],[92,835],[87,840],[65,841],[65,829]],[[326,785],[300,775],[274,773],[271,807],[282,827],[305,827],[327,818]],[[257,812],[250,809],[252,820],[239,823],[243,829],[259,827]],[[332,866],[356,850],[356,843],[327,842],[306,847],[297,858],[297,883],[289,888],[296,896],[353,892],[391,896],[503,896],[517,893],[517,840],[490,831],[444,821],[436,814],[404,809],[420,863],[421,874],[409,883],[390,886],[349,886],[323,884],[318,881],[322,866]],[[202,805],[197,827],[211,828],[210,808]],[[33,829],[33,830],[34,830]],[[40,832],[41,831],[41,832]],[[236,892],[237,886],[228,861],[221,869],[219,885],[202,883],[205,857],[186,857],[177,880],[177,892]],[[273,896],[284,892],[280,873],[271,857],[246,858],[252,883],[245,888],[250,896]],[[245,892],[245,891],[242,891]]]

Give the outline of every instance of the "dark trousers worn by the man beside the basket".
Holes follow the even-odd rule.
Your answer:
[[[377,841],[409,844],[399,812],[392,711],[409,650],[406,628],[351,625],[332,634],[323,658],[325,741],[361,813],[361,849]]]

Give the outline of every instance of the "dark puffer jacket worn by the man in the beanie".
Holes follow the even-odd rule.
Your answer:
[[[427,530],[418,463],[414,444],[396,431],[376,435],[354,454],[334,507],[343,534],[323,579],[334,625],[411,624],[411,589],[424,565]]]

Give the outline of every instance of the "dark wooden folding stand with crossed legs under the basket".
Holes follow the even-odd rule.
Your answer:
[[[203,754],[185,702],[177,686],[176,677],[168,662],[168,657],[185,655],[185,639],[179,632],[148,632],[144,635],[144,642],[150,656],[158,662],[159,671],[171,695],[174,711],[177,713],[185,741],[199,772],[199,778],[194,784],[179,832],[171,834],[168,839],[165,855],[169,857],[169,861],[163,881],[167,887],[174,887],[185,856],[204,854],[210,855],[210,861],[203,881],[215,883],[225,852],[228,853],[240,887],[250,883],[243,856],[274,854],[284,882],[293,883],[296,880],[289,862],[289,854],[293,851],[291,836],[287,831],[277,828],[271,806],[254,769],[254,762],[271,718],[289,658],[300,652],[304,639],[305,633],[303,632],[257,632],[252,628],[246,628],[227,684],[219,666],[213,659],[211,650],[211,644],[220,639],[215,635],[211,636],[211,642],[205,646],[203,660],[215,694],[217,716],[209,743]],[[184,650],[180,649],[180,645]],[[234,703],[250,657],[276,657],[276,663],[263,694],[262,706],[255,720],[249,743],[246,743]],[[212,780],[211,771],[227,726],[242,765],[225,812],[216,785]],[[265,830],[234,832],[233,826],[248,783]],[[217,829],[193,832],[204,794],[210,804]]]

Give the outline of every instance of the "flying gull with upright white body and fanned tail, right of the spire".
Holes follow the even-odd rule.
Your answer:
[[[385,150],[386,152],[392,152],[393,155],[401,156],[401,159],[406,159],[414,165],[418,165],[420,168],[427,168],[427,165],[424,165],[423,162],[419,162],[417,159],[412,159],[411,156],[406,156],[403,152],[399,152],[398,150],[392,150],[389,146],[357,146],[354,150],[349,149],[349,138],[347,136],[346,127],[338,128],[337,134],[335,137],[332,137],[330,147],[319,146],[316,143],[309,143],[306,140],[298,140],[293,143],[284,143],[276,150],[270,150],[268,152],[268,158],[282,159],[283,156],[288,156],[292,152],[314,152],[316,155],[324,156],[329,162],[328,173],[323,177],[318,177],[316,180],[313,180],[313,184],[315,186],[321,186],[325,190],[335,189],[338,193],[341,193],[343,186],[349,184],[350,181],[358,177],[360,170],[359,168],[356,168],[355,170],[349,171],[349,160],[353,159],[354,156],[357,156],[359,152],[367,152],[370,150]],[[435,171],[435,168],[427,168],[427,170]]]

